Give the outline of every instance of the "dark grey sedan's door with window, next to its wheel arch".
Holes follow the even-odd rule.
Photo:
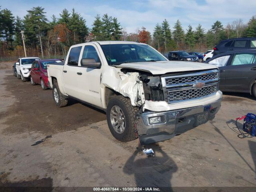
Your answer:
[[[248,90],[251,79],[256,73],[254,53],[234,54],[226,70],[226,89]]]

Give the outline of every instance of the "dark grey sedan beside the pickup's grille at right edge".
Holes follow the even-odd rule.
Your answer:
[[[256,97],[256,50],[238,50],[206,61],[220,69],[220,90],[250,93]]]

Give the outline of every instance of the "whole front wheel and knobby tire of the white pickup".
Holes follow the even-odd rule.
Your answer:
[[[107,106],[107,122],[111,134],[121,142],[132,141],[137,138],[134,130],[134,119],[138,112],[129,98],[114,96],[110,98]]]

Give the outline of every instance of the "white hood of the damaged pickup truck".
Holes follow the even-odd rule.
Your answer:
[[[116,65],[117,68],[135,69],[150,72],[153,75],[161,75],[172,72],[186,72],[194,70],[217,69],[212,64],[204,64],[189,61],[155,61],[155,62],[134,62]]]

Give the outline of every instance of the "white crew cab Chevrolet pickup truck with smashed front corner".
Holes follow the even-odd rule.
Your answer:
[[[170,139],[212,120],[222,100],[215,65],[168,61],[142,43],[73,45],[65,62],[47,69],[58,107],[75,98],[106,111],[110,132],[122,142]]]

